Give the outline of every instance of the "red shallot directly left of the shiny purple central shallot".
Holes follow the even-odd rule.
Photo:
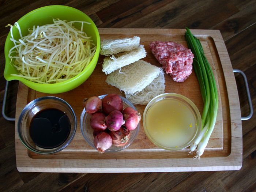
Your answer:
[[[90,119],[91,128],[95,131],[104,131],[107,128],[105,118],[106,116],[104,113],[94,113]]]

